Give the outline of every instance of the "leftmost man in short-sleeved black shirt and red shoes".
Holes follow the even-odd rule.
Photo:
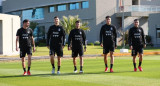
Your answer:
[[[33,31],[29,28],[30,22],[29,20],[25,19],[23,21],[23,27],[18,29],[16,34],[16,51],[20,48],[20,58],[22,58],[22,67],[24,70],[23,75],[31,75],[30,67],[31,67],[31,56],[32,56],[32,45],[33,45],[33,52],[35,52],[35,43],[33,40]],[[18,48],[18,41],[19,41],[19,48]],[[25,65],[25,56],[28,55],[28,71],[26,72],[26,65]]]

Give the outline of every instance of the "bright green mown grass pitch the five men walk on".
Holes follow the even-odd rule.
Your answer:
[[[145,56],[143,69],[133,72],[131,57],[115,57],[115,72],[104,73],[103,58],[96,57],[84,58],[84,74],[73,74],[72,59],[62,58],[61,75],[50,74],[49,60],[33,60],[32,76],[21,76],[20,61],[0,62],[0,86],[160,86],[160,57]]]

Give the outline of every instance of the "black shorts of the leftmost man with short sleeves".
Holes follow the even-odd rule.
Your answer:
[[[32,55],[32,47],[20,48],[20,58],[25,57],[26,54]]]

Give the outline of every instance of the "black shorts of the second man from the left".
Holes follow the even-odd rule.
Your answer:
[[[57,56],[63,57],[63,48],[62,45],[57,45],[57,46],[53,46],[50,47],[50,55],[54,55],[57,54]]]

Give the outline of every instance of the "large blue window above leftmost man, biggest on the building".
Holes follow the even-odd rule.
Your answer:
[[[44,8],[36,8],[22,11],[22,20],[36,20],[44,18]]]

